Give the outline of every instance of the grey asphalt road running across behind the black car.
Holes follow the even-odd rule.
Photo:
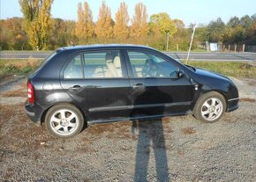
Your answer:
[[[177,59],[185,60],[187,53],[185,52],[164,52],[167,55]],[[50,54],[50,52],[2,52],[0,53],[0,59],[44,59]],[[190,54],[190,60],[198,61],[255,61],[256,53],[195,53]]]

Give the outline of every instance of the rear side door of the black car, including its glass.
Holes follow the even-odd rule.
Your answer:
[[[87,120],[114,120],[129,115],[131,87],[119,50],[74,55],[64,68],[61,85],[87,113]]]

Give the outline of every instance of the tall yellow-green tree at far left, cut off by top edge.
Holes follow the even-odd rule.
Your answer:
[[[50,9],[53,0],[19,0],[32,47],[49,48]]]

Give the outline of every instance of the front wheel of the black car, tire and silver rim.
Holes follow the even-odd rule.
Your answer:
[[[203,122],[214,123],[222,118],[226,108],[227,103],[222,94],[211,91],[197,100],[193,115]]]

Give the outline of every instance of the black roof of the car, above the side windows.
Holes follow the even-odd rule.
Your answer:
[[[94,49],[94,48],[147,48],[155,50],[152,47],[142,46],[142,45],[133,45],[133,44],[94,44],[94,45],[80,45],[80,46],[72,46],[72,47],[60,47],[56,49],[56,52],[64,51],[64,50],[84,50],[84,49]]]

